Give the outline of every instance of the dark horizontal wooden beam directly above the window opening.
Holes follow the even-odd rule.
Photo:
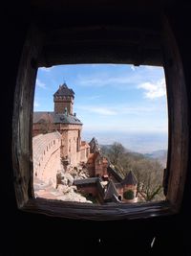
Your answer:
[[[108,44],[61,45],[43,49],[38,66],[77,63],[126,63],[135,65],[158,65],[163,63],[160,50],[148,50],[139,46],[121,46]]]

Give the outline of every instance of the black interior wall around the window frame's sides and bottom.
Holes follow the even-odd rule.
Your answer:
[[[189,6],[181,6],[166,9],[166,12],[180,48],[190,103],[190,9]],[[188,231],[189,234],[191,213],[189,205],[191,201],[190,172],[186,179],[180,214],[176,216],[141,221],[95,222],[55,219],[25,213],[17,209],[11,164],[11,119],[16,74],[32,13],[32,9],[27,5],[7,6],[2,20],[4,72],[1,86],[1,141],[3,142],[1,162],[3,162],[3,166],[0,178],[2,221],[0,232],[3,240],[0,245],[0,255],[45,255],[46,252],[49,254],[51,251],[54,254],[61,253],[62,255],[66,253],[66,248],[69,248],[72,254],[78,251],[81,255],[90,253],[87,244],[91,245],[91,253],[104,248],[119,254],[126,248],[134,255],[139,255],[139,253],[141,255],[189,255],[190,238],[186,232]],[[77,14],[77,12],[74,13]],[[107,10],[104,15],[107,16]],[[75,20],[77,18],[79,16],[75,16]],[[105,16],[103,18],[105,19]],[[86,24],[87,20],[84,17],[83,20],[83,23]],[[121,17],[120,21],[122,22]],[[114,19],[111,22],[115,22]],[[189,111],[189,115],[190,113],[191,111]],[[191,170],[191,158],[189,170]],[[156,243],[151,249],[150,244],[154,237],[156,237]],[[24,247],[28,248],[27,253]],[[21,250],[23,253],[20,253]]]

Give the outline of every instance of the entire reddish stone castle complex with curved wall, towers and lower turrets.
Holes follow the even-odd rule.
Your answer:
[[[64,169],[85,168],[86,176],[71,181],[77,192],[103,202],[136,202],[137,179],[132,172],[122,178],[102,155],[93,138],[81,141],[82,123],[73,113],[74,91],[64,83],[53,94],[53,112],[33,112],[32,148],[34,180],[39,178],[54,187],[63,184],[66,175],[57,175]],[[61,161],[60,161],[61,159]],[[57,178],[59,176],[59,178]],[[73,179],[73,177],[72,177]]]

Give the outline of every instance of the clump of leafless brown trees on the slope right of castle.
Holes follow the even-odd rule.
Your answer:
[[[145,157],[143,154],[126,151],[120,143],[114,143],[107,151],[107,156],[120,175],[133,171],[138,180],[137,196],[140,200],[151,201],[163,199],[163,168],[159,161]]]

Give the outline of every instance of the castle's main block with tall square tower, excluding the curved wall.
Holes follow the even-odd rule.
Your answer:
[[[73,113],[74,91],[64,83],[53,94],[53,112],[34,112],[32,135],[58,131],[61,134],[60,153],[66,164],[76,166],[86,162],[90,146],[81,141],[82,123]]]

